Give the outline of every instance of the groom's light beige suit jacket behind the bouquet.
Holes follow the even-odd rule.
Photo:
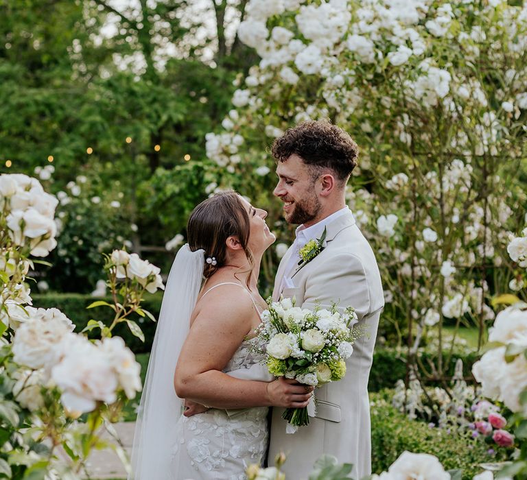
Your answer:
[[[307,480],[314,461],[323,453],[334,455],[341,463],[353,464],[353,478],[371,473],[371,433],[368,401],[368,376],[373,359],[379,316],[384,307],[381,277],[375,255],[355,224],[350,212],[327,225],[325,249],[292,276],[294,288],[279,291],[292,255],[283,257],[274,283],[275,300],[296,298],[296,304],[313,308],[338,302],[341,309],[351,306],[359,318],[355,327],[364,336],[354,345],[347,360],[347,374],[338,382],[315,391],[316,418],[297,433],[285,433],[283,409],[274,408],[270,429],[269,465],[281,451],[288,455],[283,470],[288,480]]]

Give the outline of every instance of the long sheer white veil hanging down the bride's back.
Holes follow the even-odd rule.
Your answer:
[[[174,370],[189,332],[203,267],[204,251],[192,252],[187,243],[178,251],[170,269],[137,413],[128,480],[170,478],[175,427],[183,407],[174,392]]]

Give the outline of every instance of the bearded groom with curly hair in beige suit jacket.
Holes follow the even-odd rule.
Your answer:
[[[357,144],[336,125],[306,121],[272,145],[279,178],[274,195],[285,220],[298,224],[296,239],[279,265],[273,298],[296,298],[298,307],[316,304],[354,307],[363,336],[347,360],[344,379],[316,389],[317,413],[307,427],[285,433],[283,409],[274,408],[269,464],[281,451],[288,480],[307,479],[323,453],[353,464],[353,477],[371,472],[368,376],[384,296],[377,261],[346,206],[345,189],[358,156]],[[298,251],[326,230],[325,248],[298,269]]]

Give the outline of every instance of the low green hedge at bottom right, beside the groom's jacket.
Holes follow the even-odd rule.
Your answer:
[[[430,453],[438,457],[445,470],[462,470],[463,479],[480,473],[479,464],[495,461],[487,453],[489,446],[452,431],[432,429],[427,424],[410,420],[393,408],[389,401],[393,394],[384,390],[371,394],[372,471],[380,473],[407,450]]]

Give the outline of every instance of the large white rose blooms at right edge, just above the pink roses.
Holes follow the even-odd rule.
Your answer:
[[[497,314],[489,331],[489,341],[497,342],[474,363],[472,373],[481,383],[482,394],[502,400],[514,412],[527,414],[520,394],[527,388],[527,311],[513,305]],[[518,355],[519,354],[519,355]]]

